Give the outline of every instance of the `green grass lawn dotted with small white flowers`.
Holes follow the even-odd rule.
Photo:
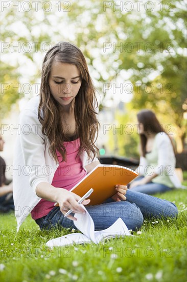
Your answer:
[[[0,280],[186,281],[186,193],[156,195],[177,205],[177,219],[145,218],[141,234],[98,245],[51,250],[46,241],[71,230],[41,232],[29,216],[16,233],[14,215],[2,214]]]

